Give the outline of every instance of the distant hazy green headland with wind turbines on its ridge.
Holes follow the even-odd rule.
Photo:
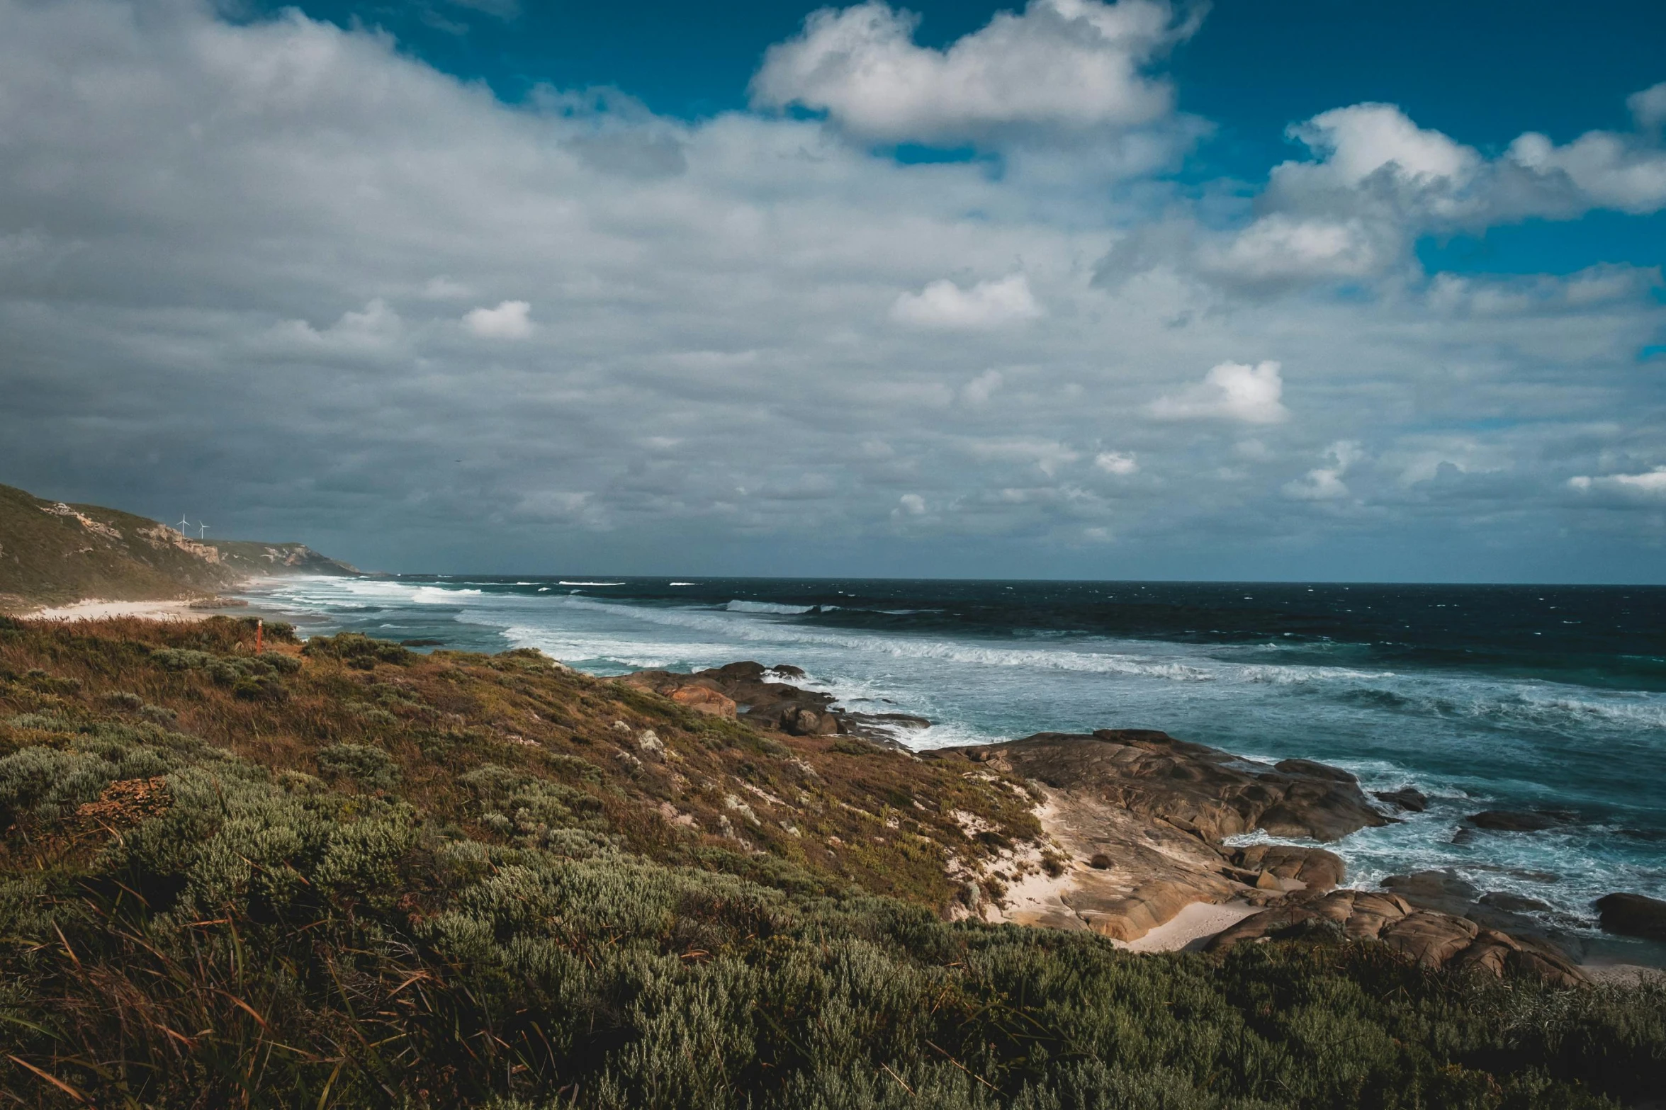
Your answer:
[[[275,571],[353,567],[302,544],[202,543],[132,513],[0,486],[0,607],[180,597]]]

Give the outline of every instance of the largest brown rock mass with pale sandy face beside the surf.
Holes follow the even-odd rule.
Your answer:
[[[1389,824],[1358,779],[1338,767],[1308,759],[1268,766],[1138,729],[1041,732],[935,756],[995,766],[1040,784],[1048,794],[1043,827],[1073,857],[1106,864],[1073,869],[1051,897],[1011,920],[1091,929],[1133,942],[1193,902],[1238,902],[1256,912],[1216,934],[1210,949],[1331,935],[1379,940],[1424,967],[1584,982],[1583,972],[1539,937],[1478,924],[1459,907],[1339,889],[1346,869],[1324,849],[1228,844],[1256,830],[1334,842]]]

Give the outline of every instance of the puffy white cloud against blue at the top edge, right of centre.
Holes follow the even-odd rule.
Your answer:
[[[1030,0],[946,50],[913,42],[920,17],[883,2],[821,8],[770,47],[753,103],[826,111],[881,141],[961,143],[1013,128],[1130,128],[1173,110],[1153,58],[1185,38],[1156,0]]]

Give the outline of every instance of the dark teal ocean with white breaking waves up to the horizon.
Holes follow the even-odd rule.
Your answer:
[[[1429,797],[1328,845],[1353,885],[1449,869],[1593,945],[1596,897],[1666,899],[1666,587],[568,574],[293,577],[243,596],[307,636],[538,647],[600,676],[790,662],[850,709],[930,717],[901,737],[915,747],[1145,727],[1316,759]],[[1459,835],[1484,809],[1566,824]]]

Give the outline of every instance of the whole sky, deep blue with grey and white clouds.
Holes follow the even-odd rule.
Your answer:
[[[1666,582],[1666,7],[0,0],[0,483],[365,567]]]

